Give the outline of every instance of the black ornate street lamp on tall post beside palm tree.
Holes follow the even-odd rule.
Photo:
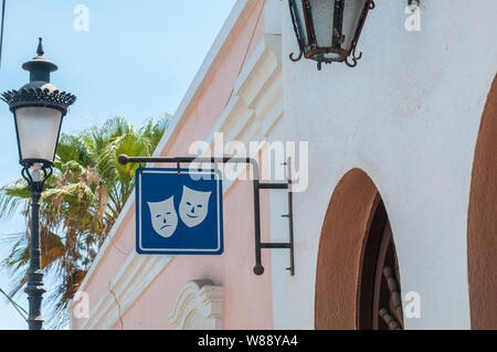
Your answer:
[[[30,83],[19,90],[2,94],[14,116],[15,132],[22,177],[31,192],[31,259],[28,270],[25,292],[30,303],[28,324],[30,330],[41,330],[43,286],[41,269],[39,211],[40,198],[45,181],[52,174],[62,119],[76,97],[60,92],[50,83],[50,73],[57,66],[43,56],[42,39],[38,45],[38,56],[24,63],[22,68],[30,72]]]

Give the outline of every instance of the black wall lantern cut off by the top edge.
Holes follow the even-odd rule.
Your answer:
[[[373,0],[288,0],[300,53],[303,56],[322,63],[345,62],[355,67],[362,53],[356,54],[357,43]]]

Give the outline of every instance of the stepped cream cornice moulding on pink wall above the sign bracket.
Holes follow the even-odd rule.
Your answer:
[[[210,157],[208,151],[215,151],[215,134],[222,132],[225,147],[233,140],[245,146],[250,141],[261,142],[257,150],[250,150],[248,157],[256,158],[283,116],[282,38],[265,34],[236,78],[232,98],[205,138],[203,157]],[[244,168],[239,168],[237,174],[242,172]],[[233,183],[223,181],[224,193]]]

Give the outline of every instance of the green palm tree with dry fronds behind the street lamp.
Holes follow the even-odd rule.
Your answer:
[[[40,209],[42,268],[55,275],[57,282],[55,292],[49,296],[53,318],[64,317],[67,302],[135,186],[137,166],[121,166],[117,157],[151,156],[169,120],[166,115],[158,122],[148,120],[137,129],[116,117],[78,135],[61,135],[54,173],[45,183]],[[0,218],[15,212],[28,218],[25,232],[2,238],[3,244],[11,246],[2,262],[15,275],[11,296],[27,282],[29,209],[30,192],[23,179],[0,189]]]

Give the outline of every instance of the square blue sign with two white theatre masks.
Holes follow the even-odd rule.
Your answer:
[[[138,169],[136,250],[221,255],[222,177],[218,170]]]

